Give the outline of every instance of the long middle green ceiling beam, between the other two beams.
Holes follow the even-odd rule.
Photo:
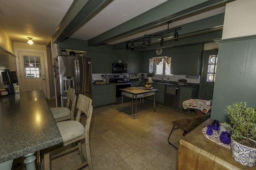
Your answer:
[[[121,25],[88,40],[88,45],[101,45],[108,41],[113,41],[120,37],[130,35],[131,33],[135,33],[227,1],[229,0],[191,0],[186,2],[182,0],[169,0],[152,10],[133,18],[132,20],[126,21],[125,23],[122,23]]]

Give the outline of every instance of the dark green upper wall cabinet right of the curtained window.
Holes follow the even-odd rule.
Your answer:
[[[200,75],[202,53],[178,53],[172,55],[171,74]]]

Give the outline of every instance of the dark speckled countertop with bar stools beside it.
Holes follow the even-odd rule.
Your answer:
[[[0,97],[0,163],[61,142],[42,90]]]

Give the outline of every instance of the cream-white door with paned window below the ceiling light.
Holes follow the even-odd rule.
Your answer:
[[[43,90],[46,93],[44,53],[18,51],[22,91]]]

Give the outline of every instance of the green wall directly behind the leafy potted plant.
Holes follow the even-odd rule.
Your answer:
[[[211,119],[228,121],[226,106],[256,102],[256,36],[218,41],[218,66]]]

